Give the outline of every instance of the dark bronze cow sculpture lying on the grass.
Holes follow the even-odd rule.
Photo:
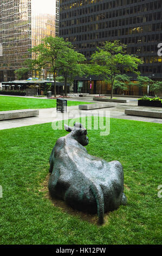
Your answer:
[[[65,129],[70,133],[57,139],[50,155],[49,192],[73,209],[98,213],[102,224],[104,212],[127,203],[122,165],[89,155],[83,147],[89,143],[87,130],[81,124]]]

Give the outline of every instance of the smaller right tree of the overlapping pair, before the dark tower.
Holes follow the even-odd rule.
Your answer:
[[[85,56],[73,50],[72,45],[64,49],[63,58],[59,60],[61,66],[59,74],[64,79],[64,93],[67,96],[67,82],[74,81],[75,76],[83,76],[83,65]]]

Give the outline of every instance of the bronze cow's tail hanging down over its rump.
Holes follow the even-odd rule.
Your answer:
[[[103,197],[103,192],[102,188],[100,185],[96,185],[92,183],[90,186],[93,196],[96,199],[96,203],[98,206],[98,217],[99,217],[99,223],[103,223],[103,217],[104,217],[104,197]]]

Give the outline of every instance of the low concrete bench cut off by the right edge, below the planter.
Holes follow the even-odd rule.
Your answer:
[[[127,115],[138,115],[140,117],[153,117],[162,118],[162,111],[158,110],[143,110],[143,109],[125,109],[125,114]]]

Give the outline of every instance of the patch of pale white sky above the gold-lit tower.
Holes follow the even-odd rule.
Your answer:
[[[55,14],[55,7],[55,0],[31,0],[31,10],[37,14]]]

